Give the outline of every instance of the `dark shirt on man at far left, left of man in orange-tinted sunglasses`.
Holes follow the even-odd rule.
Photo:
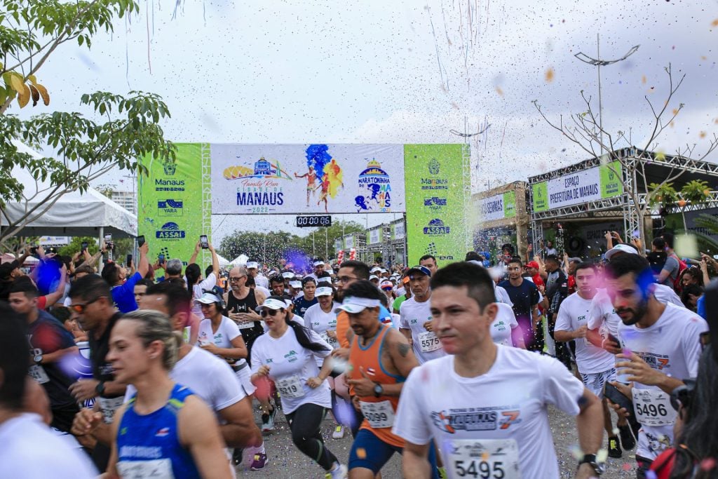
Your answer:
[[[27,340],[30,345],[31,358],[75,346],[73,335],[60,324],[60,321],[45,311],[38,311],[37,320],[28,326]],[[41,383],[47,392],[50,409],[77,406],[75,398],[67,389],[75,381],[62,371],[60,363],[42,363],[30,366],[30,375]]]

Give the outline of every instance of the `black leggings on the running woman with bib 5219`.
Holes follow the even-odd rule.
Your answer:
[[[322,406],[302,404],[294,412],[286,414],[286,421],[289,422],[289,429],[292,429],[292,442],[297,449],[328,471],[339,461],[322,440],[324,414],[325,408]]]

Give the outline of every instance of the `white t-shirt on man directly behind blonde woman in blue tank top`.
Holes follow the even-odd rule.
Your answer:
[[[184,358],[177,361],[172,371],[169,371],[169,377],[175,383],[190,388],[215,412],[236,404],[246,397],[232,368],[217,356],[196,346],[192,347]],[[136,392],[134,386],[128,385],[125,402],[129,401]]]

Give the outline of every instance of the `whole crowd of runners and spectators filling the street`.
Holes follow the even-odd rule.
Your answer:
[[[0,477],[251,477],[283,414],[310,477],[396,452],[412,479],[594,478],[625,454],[639,479],[717,478],[718,263],[607,241],[601,264],[548,244],[489,268],[40,248],[30,274],[0,265]],[[570,470],[549,406],[576,417]]]

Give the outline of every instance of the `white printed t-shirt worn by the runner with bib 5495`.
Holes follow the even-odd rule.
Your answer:
[[[414,368],[401,390],[393,432],[417,445],[426,445],[433,437],[442,448],[449,477],[460,475],[450,468],[457,464],[452,452],[462,445],[480,440],[493,448],[500,444],[489,441],[508,440],[505,445],[518,445],[518,453],[513,454],[514,461],[511,453],[498,457],[503,464],[487,457],[492,470],[505,469],[504,475],[491,477],[516,477],[507,471],[510,462],[515,462],[523,478],[559,478],[546,406],[579,414],[584,386],[554,358],[502,345],[497,348],[488,373],[475,378],[462,378],[454,371],[453,355]],[[462,440],[468,442],[462,444]],[[477,464],[473,467],[478,470]]]

